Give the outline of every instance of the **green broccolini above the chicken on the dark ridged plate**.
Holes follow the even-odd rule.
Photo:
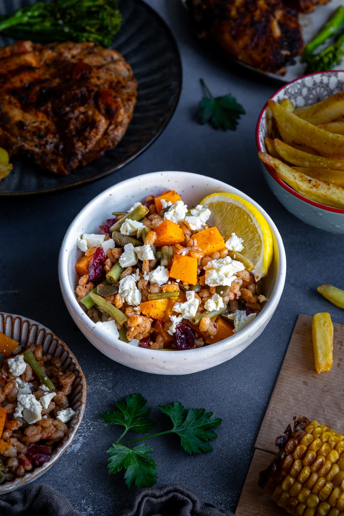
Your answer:
[[[110,46],[121,26],[117,0],[39,2],[0,17],[0,32],[16,39],[91,41]]]

